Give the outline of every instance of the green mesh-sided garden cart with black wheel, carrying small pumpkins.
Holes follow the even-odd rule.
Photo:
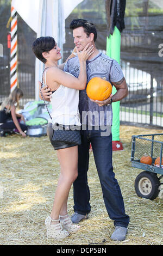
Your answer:
[[[147,199],[155,199],[159,196],[161,190],[160,180],[163,177],[163,168],[161,168],[163,148],[163,133],[148,135],[133,135],[131,147],[131,166],[142,169],[135,179],[135,191],[137,196]],[[152,164],[141,163],[143,155],[152,157]],[[160,157],[160,166],[155,166],[154,162]],[[157,174],[161,174],[159,177]]]

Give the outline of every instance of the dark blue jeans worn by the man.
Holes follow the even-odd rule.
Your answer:
[[[74,212],[86,215],[91,211],[90,190],[87,184],[91,143],[108,215],[114,220],[115,226],[127,227],[129,216],[125,214],[120,186],[112,168],[112,135],[110,133],[109,136],[101,136],[101,132],[95,129],[81,131],[82,144],[78,146],[78,178],[73,183]]]

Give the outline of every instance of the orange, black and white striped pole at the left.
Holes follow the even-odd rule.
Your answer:
[[[17,12],[11,6],[10,90],[17,87]]]

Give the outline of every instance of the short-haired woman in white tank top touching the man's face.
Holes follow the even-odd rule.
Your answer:
[[[76,78],[62,71],[63,65],[58,66],[61,59],[60,48],[54,38],[46,36],[38,38],[33,43],[35,56],[45,63],[43,81],[52,92],[52,119],[54,123],[63,125],[81,125],[78,115],[79,90],[86,86],[86,59],[92,54],[92,46],[87,45],[82,52],[78,52],[80,74]],[[60,69],[61,68],[61,69]],[[54,131],[55,132],[55,131]],[[67,214],[67,199],[71,185],[78,176],[78,145],[64,142],[53,142],[52,123],[49,121],[47,134],[60,163],[60,176],[55,191],[54,204],[51,215],[45,220],[47,235],[54,239],[64,239],[71,232],[79,229],[72,223]],[[62,225],[64,228],[62,228]]]

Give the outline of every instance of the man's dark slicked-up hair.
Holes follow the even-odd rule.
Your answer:
[[[96,41],[97,31],[96,31],[95,25],[91,21],[87,21],[87,20],[83,20],[83,19],[74,19],[70,23],[70,29],[72,29],[72,30],[75,28],[79,28],[79,27],[84,28],[84,32],[87,34],[87,36],[89,36],[91,33],[93,33],[94,41]]]

